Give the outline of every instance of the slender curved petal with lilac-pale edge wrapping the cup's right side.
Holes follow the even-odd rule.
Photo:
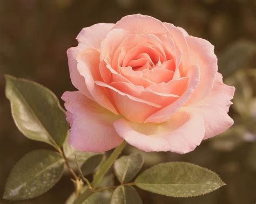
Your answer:
[[[192,66],[190,68],[190,80],[188,82],[187,90],[184,92],[180,98],[167,105],[163,109],[157,111],[155,114],[151,115],[146,119],[146,123],[163,123],[169,120],[187,101],[190,99],[191,94],[194,89],[198,86],[200,80],[200,73],[198,66]],[[177,94],[178,95],[178,94]]]

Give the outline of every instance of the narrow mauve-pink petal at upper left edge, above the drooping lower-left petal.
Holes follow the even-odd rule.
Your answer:
[[[81,76],[77,70],[76,57],[79,52],[82,52],[79,47],[71,47],[66,52],[68,55],[70,79],[73,86],[75,86],[84,95],[89,97],[89,99],[94,100],[90,92],[86,88],[83,76]]]

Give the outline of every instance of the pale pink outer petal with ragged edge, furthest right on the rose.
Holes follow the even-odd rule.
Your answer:
[[[217,73],[213,89],[204,100],[188,106],[186,110],[194,111],[203,116],[205,121],[204,139],[219,135],[231,125],[233,119],[227,115],[233,99],[235,88],[223,83],[222,75]]]

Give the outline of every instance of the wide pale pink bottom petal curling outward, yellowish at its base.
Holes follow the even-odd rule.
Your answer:
[[[201,143],[205,134],[201,116],[191,112],[178,112],[165,123],[132,123],[126,119],[114,122],[118,135],[138,149],[187,153]]]

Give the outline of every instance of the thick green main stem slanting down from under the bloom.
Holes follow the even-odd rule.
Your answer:
[[[119,154],[122,152],[122,150],[124,149],[126,144],[127,143],[124,141],[122,144],[120,144],[118,147],[116,147],[116,149],[114,149],[114,151],[112,152],[110,157],[106,160],[106,162],[100,168],[98,174],[95,175],[95,178],[93,179],[93,181],[91,183],[92,189],[87,188],[84,193],[80,194],[77,197],[77,199],[75,200],[75,202],[73,202],[73,204],[81,204],[85,199],[87,199],[93,193],[93,189],[95,189],[99,186],[100,181],[102,181],[104,175],[110,169],[110,167],[112,166],[114,161],[117,159]]]

